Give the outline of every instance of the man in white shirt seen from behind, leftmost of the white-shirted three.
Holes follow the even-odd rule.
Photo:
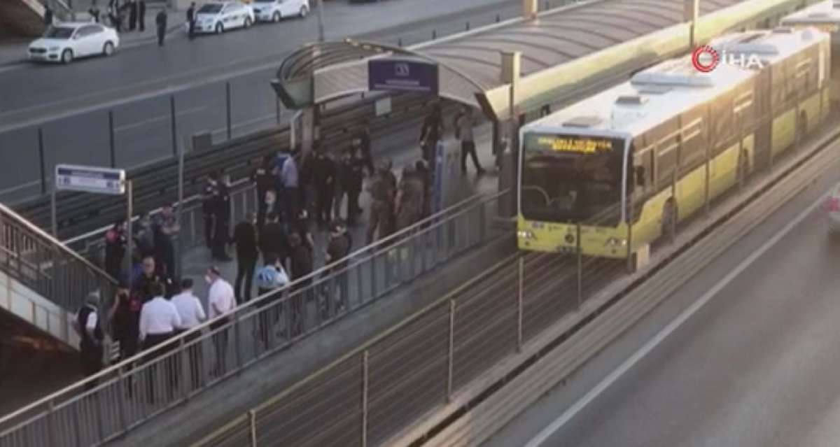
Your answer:
[[[175,306],[166,301],[164,296],[164,287],[160,282],[154,282],[150,285],[150,292],[152,298],[145,302],[143,308],[140,309],[140,341],[143,343],[143,350],[150,350],[158,344],[164,343],[175,335],[175,330],[181,326],[181,316]],[[155,350],[152,355],[147,356],[146,361],[152,362],[152,365],[147,366],[148,376],[147,382],[149,384],[149,401],[155,402],[155,381],[157,380],[157,358],[165,355],[167,351],[171,350],[174,345],[166,346],[159,350]],[[165,375],[168,384],[166,389],[170,397],[177,387],[178,371],[175,365],[175,360],[170,357],[165,361]]]

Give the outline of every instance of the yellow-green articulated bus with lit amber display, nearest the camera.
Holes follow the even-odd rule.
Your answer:
[[[521,250],[646,254],[826,117],[828,34],[748,31],[704,51],[711,71],[668,60],[520,129]]]

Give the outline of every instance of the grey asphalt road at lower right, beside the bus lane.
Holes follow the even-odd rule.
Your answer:
[[[837,445],[840,239],[820,208],[806,211],[837,178],[834,169],[816,179],[486,447]],[[770,245],[798,214],[801,223]],[[642,360],[602,382],[594,398],[577,400],[732,271],[739,273]],[[575,413],[575,402],[586,405]],[[561,415],[570,418],[552,427]],[[543,442],[528,444],[533,439]]]

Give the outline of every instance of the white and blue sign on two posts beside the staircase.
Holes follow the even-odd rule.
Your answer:
[[[56,165],[52,190],[52,233],[58,239],[58,220],[55,216],[55,195],[59,191],[93,192],[122,196],[128,186],[129,192],[129,238],[131,237],[131,181],[125,180],[125,170],[97,166]],[[131,244],[129,266],[131,262]]]

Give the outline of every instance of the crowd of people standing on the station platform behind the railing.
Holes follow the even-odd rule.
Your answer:
[[[237,271],[232,285],[217,267],[207,269],[207,312],[192,293],[192,280],[177,279],[179,266],[176,266],[173,239],[180,228],[171,205],[163,207],[154,219],[148,213],[141,213],[130,237],[123,220],[114,223],[105,237],[104,267],[120,285],[108,315],[113,339],[119,344],[120,359],[164,343],[207,318],[229,315],[238,305],[251,300],[254,287],[256,296],[265,296],[258,306],[266,308],[282,297],[282,293],[271,292],[294,284],[289,302],[292,334],[302,331],[307,303],[316,303],[319,318],[328,318],[348,306],[346,268],[354,246],[348,226],[360,223],[360,195],[364,191],[370,194],[365,234],[368,245],[428,217],[432,210],[433,180],[428,168],[433,156],[429,146],[443,132],[440,117],[440,108],[434,107],[421,132],[423,159],[404,166],[399,178],[393,173],[390,160],[375,163],[367,132],[358,134],[349,147],[337,152],[328,151],[316,142],[312,152],[303,158],[288,150],[266,156],[251,177],[257,192],[257,210],[233,228],[229,176],[223,172],[208,176],[202,189],[205,244],[213,260],[218,262],[233,260],[228,255],[233,246]],[[466,169],[465,161],[471,154],[476,171],[481,173],[475,157],[474,122],[469,109],[459,113],[454,124],[456,137],[461,139],[462,169]],[[328,232],[328,242],[323,248],[323,265],[327,267],[323,276],[333,276],[334,280],[311,287],[320,279],[311,276],[316,250],[312,229],[316,227],[316,231]],[[125,262],[128,244],[133,248],[130,263]],[[124,264],[130,267],[126,269]],[[101,318],[97,318],[97,299],[92,296],[76,317],[86,375],[102,367],[104,334]],[[260,313],[255,329],[258,341],[266,347],[281,313],[280,306],[272,309]],[[211,330],[220,329],[225,323],[225,318],[219,318]],[[199,334],[191,336],[195,338]],[[220,373],[227,355],[227,332],[218,330],[213,345],[216,350],[213,372]],[[153,357],[165,354],[165,350],[155,353]],[[197,387],[203,365],[200,344],[191,348],[190,365],[192,384]],[[170,376],[180,376],[178,371],[168,372]],[[89,384],[92,385],[93,382]],[[154,392],[150,391],[152,397]]]

